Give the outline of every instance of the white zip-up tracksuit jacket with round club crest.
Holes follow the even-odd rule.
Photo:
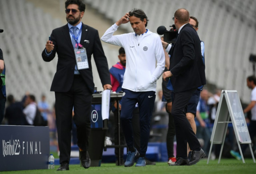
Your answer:
[[[137,36],[135,33],[113,36],[117,28],[116,24],[112,25],[101,40],[125,49],[126,70],[122,88],[134,92],[156,91],[157,80],[165,69],[165,53],[159,35],[147,30]]]

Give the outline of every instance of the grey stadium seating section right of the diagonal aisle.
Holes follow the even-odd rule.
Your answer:
[[[149,18],[148,28],[156,32],[160,25],[173,24],[171,17],[178,8],[186,8],[199,19],[199,37],[205,42],[206,76],[210,84],[222,89],[238,90],[240,98],[249,102],[246,77],[251,75],[248,61],[255,54],[255,0],[85,0],[91,7],[113,22],[134,7],[141,8]],[[114,10],[113,10],[114,9]],[[129,25],[121,25],[133,32]],[[167,27],[168,28],[168,27]]]

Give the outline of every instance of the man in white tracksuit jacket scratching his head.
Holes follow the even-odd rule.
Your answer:
[[[145,154],[149,141],[150,121],[155,101],[157,80],[165,69],[165,54],[160,37],[146,29],[147,16],[141,9],[126,13],[101,37],[103,42],[121,46],[126,53],[126,70],[123,77],[121,123],[129,152],[125,167],[145,166]],[[134,33],[114,35],[121,24],[130,22]],[[157,61],[157,66],[156,65]],[[134,148],[132,112],[139,106],[141,148]]]

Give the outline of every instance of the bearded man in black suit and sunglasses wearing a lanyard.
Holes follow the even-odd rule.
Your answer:
[[[65,2],[66,20],[68,24],[53,30],[46,48],[42,52],[44,61],[51,61],[58,54],[57,71],[51,91],[55,92],[56,124],[58,131],[59,162],[57,170],[69,170],[71,151],[71,123],[74,107],[74,122],[77,126],[78,147],[81,164],[84,168],[90,166],[88,140],[90,134],[91,99],[94,92],[93,73],[91,70],[91,55],[94,55],[96,67],[104,89],[112,86],[107,59],[99,39],[98,31],[81,22],[85,12],[85,4],[81,0]],[[78,48],[86,50],[75,50]],[[85,52],[82,57],[86,67],[79,67],[75,55]]]

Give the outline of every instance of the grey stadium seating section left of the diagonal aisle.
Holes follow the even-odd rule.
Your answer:
[[[65,23],[25,0],[1,0],[0,9],[0,27],[4,29],[4,33],[0,35],[0,47],[8,73],[7,95],[13,94],[19,100],[28,91],[35,94],[39,101],[44,93],[52,106],[55,97],[49,90],[56,71],[57,58],[51,63],[44,62],[41,52],[52,29]],[[104,50],[109,51],[110,55],[118,53],[106,45]],[[109,64],[116,61],[117,59],[109,61]],[[97,73],[96,67],[94,69]],[[98,89],[101,90],[100,80],[95,78],[95,81],[95,84],[100,84]]]

